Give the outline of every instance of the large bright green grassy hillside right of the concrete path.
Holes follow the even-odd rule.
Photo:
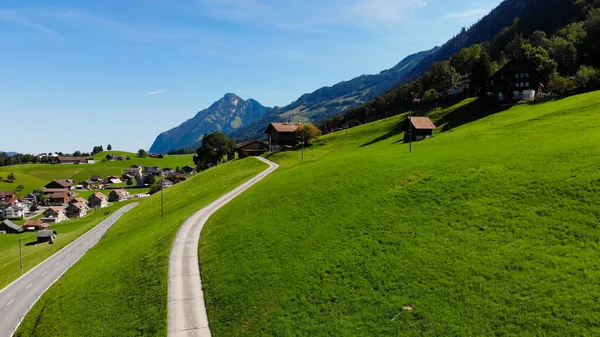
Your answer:
[[[204,228],[213,336],[599,334],[600,93],[488,113],[271,156]]]

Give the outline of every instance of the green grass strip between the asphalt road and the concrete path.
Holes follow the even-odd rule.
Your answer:
[[[157,193],[124,215],[32,308],[16,336],[165,336],[168,262],[183,222],[267,165],[237,160]]]

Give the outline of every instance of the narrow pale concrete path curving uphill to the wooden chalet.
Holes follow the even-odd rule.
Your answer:
[[[256,158],[269,168],[192,215],[177,232],[169,257],[169,337],[211,336],[198,264],[200,232],[213,213],[279,167],[262,157]]]

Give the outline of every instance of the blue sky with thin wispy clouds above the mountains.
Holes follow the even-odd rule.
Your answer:
[[[440,45],[500,0],[4,0],[0,150],[149,148],[225,93],[283,106]]]

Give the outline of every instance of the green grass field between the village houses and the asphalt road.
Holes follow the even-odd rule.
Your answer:
[[[138,200],[113,203],[101,210],[89,210],[88,215],[84,218],[53,224],[51,229],[58,233],[58,239],[53,245],[32,245],[37,241],[35,232],[0,234],[0,289],[23,275],[19,266],[19,239],[22,240],[23,272],[27,272],[102,222],[107,217],[106,212],[113,213],[135,201]],[[18,225],[23,225],[24,222],[14,221]]]

